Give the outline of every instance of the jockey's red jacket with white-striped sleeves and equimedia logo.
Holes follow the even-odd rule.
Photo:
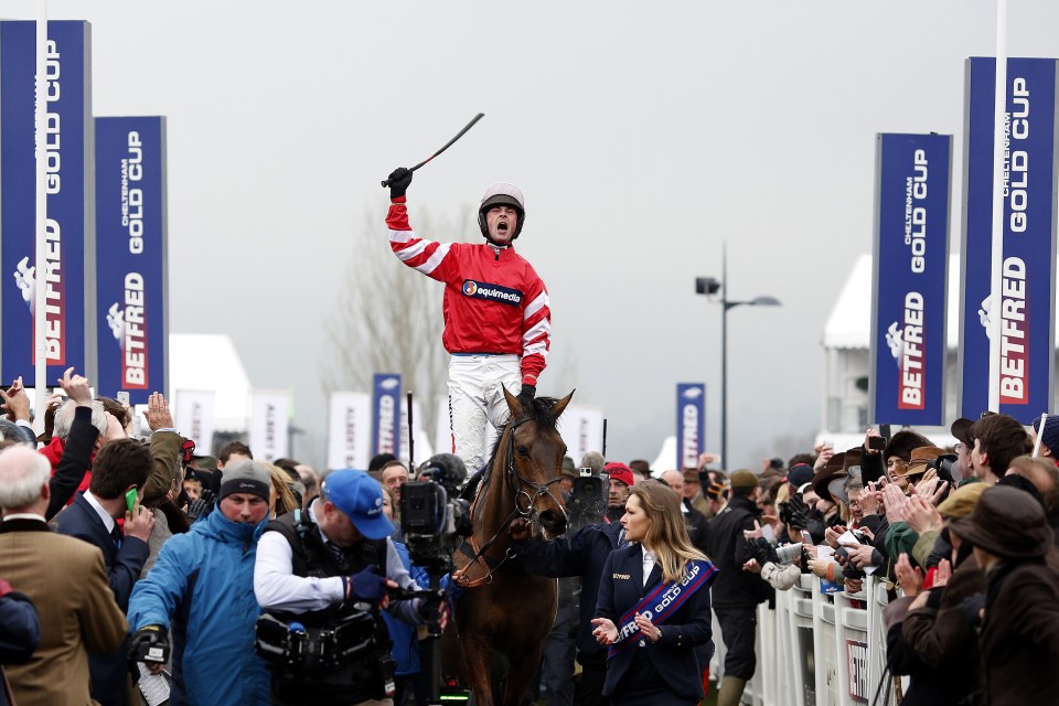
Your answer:
[[[533,266],[513,246],[416,237],[404,196],[389,206],[386,225],[400,261],[445,282],[445,350],[521,355],[522,383],[536,385],[552,345],[552,310]]]

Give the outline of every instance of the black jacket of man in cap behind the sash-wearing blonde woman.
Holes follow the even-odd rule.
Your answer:
[[[747,552],[744,530],[753,530],[761,511],[749,498],[732,495],[709,521],[709,559],[719,569],[713,587],[714,607],[757,606],[773,596],[772,587],[742,565],[753,558]]]

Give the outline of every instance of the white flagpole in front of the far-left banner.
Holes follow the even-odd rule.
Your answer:
[[[47,400],[47,341],[45,339],[45,295],[47,250],[44,229],[47,221],[47,152],[45,128],[47,121],[47,0],[36,0],[36,264],[33,271],[33,351],[35,375],[33,389],[36,398],[34,429],[44,431],[44,405]]]

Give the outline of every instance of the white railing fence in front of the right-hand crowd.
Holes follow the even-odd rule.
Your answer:
[[[803,575],[791,590],[777,591],[775,608],[758,608],[758,668],[744,704],[753,706],[896,706],[876,691],[886,668],[886,587],[866,577],[859,593],[821,591],[820,579]],[[724,644],[710,674],[724,678]]]

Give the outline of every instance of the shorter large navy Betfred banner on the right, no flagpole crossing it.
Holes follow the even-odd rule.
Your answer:
[[[879,135],[871,287],[873,424],[945,421],[951,135]]]

